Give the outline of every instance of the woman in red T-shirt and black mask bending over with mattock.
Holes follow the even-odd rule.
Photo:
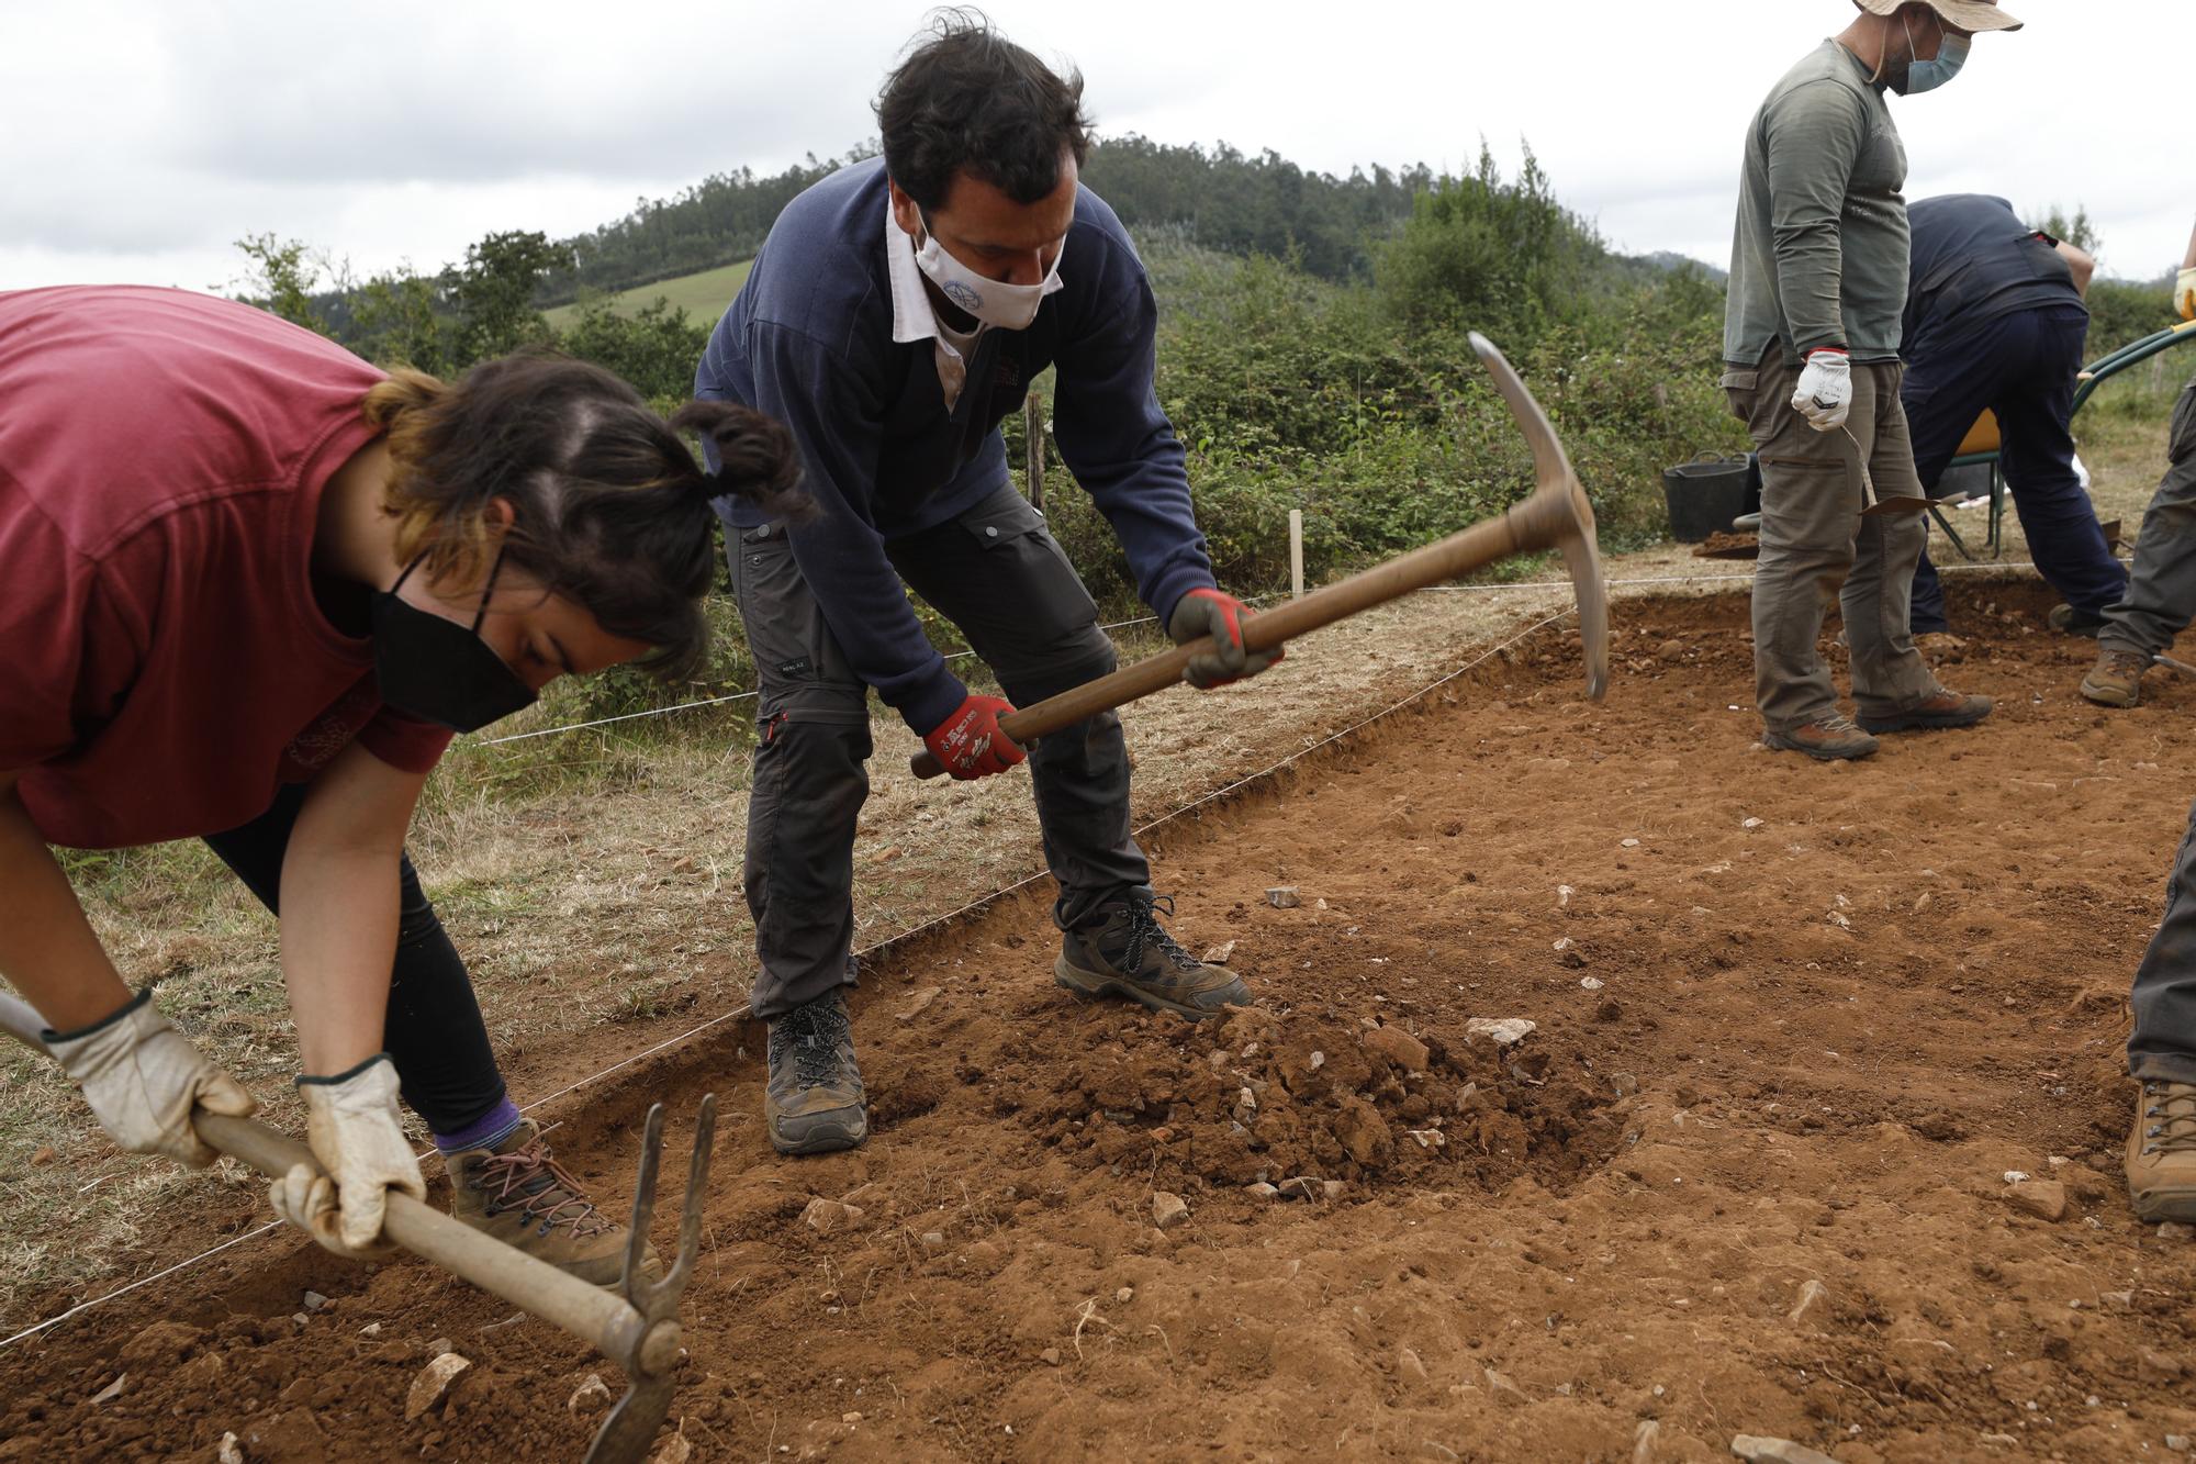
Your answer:
[[[0,295],[0,974],[123,1150],[204,1165],[250,1095],[132,994],[51,844],[202,838],[281,917],[307,1139],[277,1211],[369,1253],[422,1196],[595,1284],[624,1229],[518,1117],[404,833],[452,730],[564,673],[703,644],[709,499],[786,503],[791,444],[608,371],[512,356],[441,385],[182,290]],[[386,1049],[386,1051],[384,1051]]]

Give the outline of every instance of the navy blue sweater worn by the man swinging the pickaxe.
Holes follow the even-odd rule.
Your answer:
[[[931,341],[892,339],[885,165],[824,178],[777,215],[718,321],[694,393],[782,420],[824,514],[791,534],[793,558],[863,681],[929,732],[968,695],[922,635],[885,541],[935,528],[1008,481],[999,422],[1058,367],[1052,435],[1113,525],[1135,587],[1162,622],[1212,585],[1190,514],[1181,442],[1153,393],[1157,306],[1113,211],[1089,189],[1061,257],[1061,288],[1028,330],[986,330],[953,411]],[[898,246],[907,237],[894,229]],[[753,528],[749,506],[720,506]]]

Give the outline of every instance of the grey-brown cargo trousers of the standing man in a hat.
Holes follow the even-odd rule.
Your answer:
[[[1869,457],[1875,495],[1922,497],[1897,361],[1853,363],[1847,426]],[[1928,528],[1919,517],[1862,519],[1860,468],[1845,433],[1818,433],[1792,411],[1799,367],[1781,347],[1759,367],[1724,374],[1730,411],[1761,448],[1761,561],[1755,567],[1755,706],[1770,732],[1790,732],[1838,710],[1838,688],[1816,648],[1823,609],[1838,596],[1853,651],[1853,701],[1869,714],[1902,712],[1937,695],[1906,629],[1915,561]]]

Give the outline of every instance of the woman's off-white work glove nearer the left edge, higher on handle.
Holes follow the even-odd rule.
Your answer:
[[[110,1018],[72,1033],[46,1029],[42,1038],[83,1088],[99,1125],[132,1154],[211,1165],[215,1154],[191,1128],[191,1108],[242,1119],[259,1106],[152,1009],[152,987]]]

